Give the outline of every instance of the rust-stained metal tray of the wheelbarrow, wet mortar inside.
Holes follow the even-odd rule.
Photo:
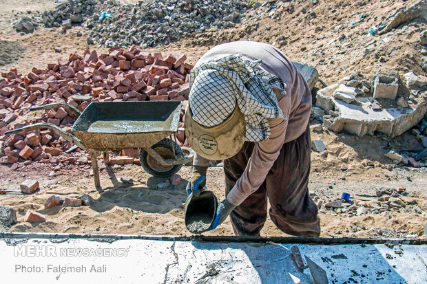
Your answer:
[[[183,102],[91,102],[72,133],[87,149],[147,148],[178,129]]]

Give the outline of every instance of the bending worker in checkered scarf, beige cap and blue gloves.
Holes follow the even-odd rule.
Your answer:
[[[211,229],[230,215],[237,235],[260,235],[269,215],[282,232],[319,236],[307,188],[311,91],[271,45],[213,47],[191,70],[185,133],[196,152],[187,190],[198,196],[209,160],[224,160],[226,199]]]

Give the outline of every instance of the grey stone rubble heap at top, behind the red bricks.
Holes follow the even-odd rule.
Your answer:
[[[231,28],[248,7],[245,0],[139,1],[133,5],[111,0],[69,0],[39,17],[22,19],[15,29],[17,32],[32,32],[37,25],[72,28],[74,23],[89,30],[88,44],[154,47],[194,32]]]

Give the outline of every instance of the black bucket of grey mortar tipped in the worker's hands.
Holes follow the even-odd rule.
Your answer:
[[[201,234],[209,230],[215,219],[217,207],[216,196],[206,188],[198,197],[190,193],[185,202],[185,226],[187,230],[193,234]]]

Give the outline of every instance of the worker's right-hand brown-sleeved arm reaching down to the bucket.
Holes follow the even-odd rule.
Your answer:
[[[288,120],[282,118],[269,119],[269,126],[269,139],[255,144],[242,176],[227,195],[227,200],[234,206],[239,206],[244,199],[258,190],[280,154]]]

